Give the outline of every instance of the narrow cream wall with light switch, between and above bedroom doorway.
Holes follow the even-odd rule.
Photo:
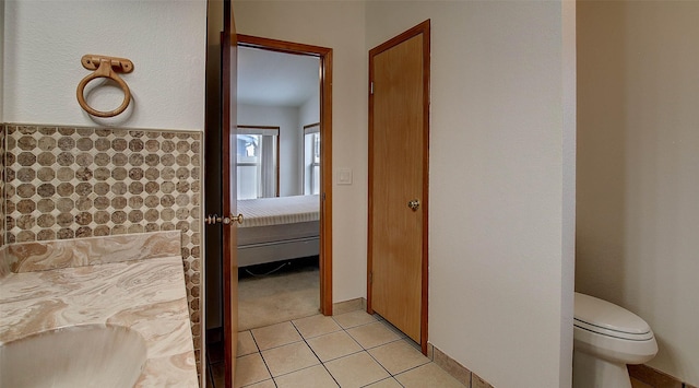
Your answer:
[[[364,2],[234,1],[238,33],[333,49],[333,166],[354,184],[333,186],[333,301],[366,295],[367,51]]]

